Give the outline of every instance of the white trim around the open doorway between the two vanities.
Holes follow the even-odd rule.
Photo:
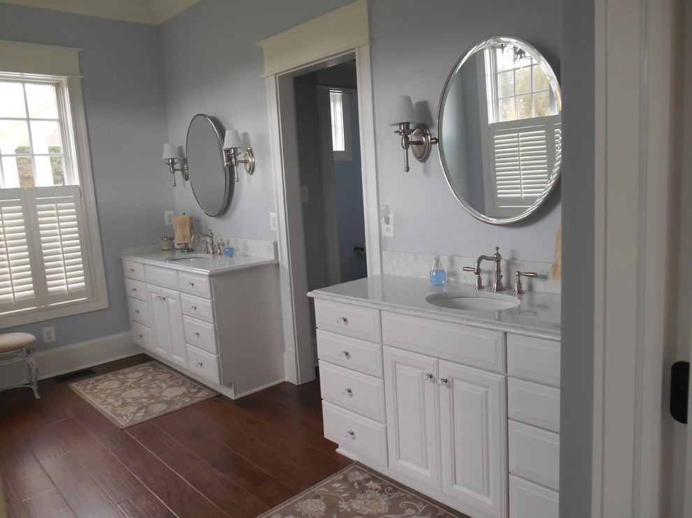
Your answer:
[[[301,212],[293,77],[321,64],[356,57],[363,215],[366,222],[368,275],[380,274],[377,218],[375,115],[370,72],[368,1],[358,0],[258,45],[264,49],[269,133],[277,209],[277,241],[286,353],[286,378],[305,383],[315,378],[310,340],[303,217]]]

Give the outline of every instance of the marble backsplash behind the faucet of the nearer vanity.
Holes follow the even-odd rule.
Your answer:
[[[434,253],[410,253],[410,252],[382,252],[382,273],[391,275],[403,275],[408,277],[428,278],[430,267],[435,258]],[[463,256],[442,256],[442,267],[445,268],[449,281],[462,282],[467,284],[475,283],[473,272],[463,272],[463,267],[475,267],[476,257]],[[543,293],[561,293],[561,283],[552,281],[550,271],[552,262],[522,261],[518,259],[505,259],[500,262],[503,272],[503,284],[505,291],[512,293],[514,283],[517,280],[517,270],[519,272],[535,272],[537,277],[521,277],[521,284],[524,291],[538,291]],[[492,262],[483,261],[481,265],[482,279],[484,286],[492,286],[495,276],[495,269]],[[489,288],[488,288],[489,289]]]

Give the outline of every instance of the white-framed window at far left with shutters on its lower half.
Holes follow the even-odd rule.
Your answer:
[[[108,307],[77,52],[0,41],[0,327]]]

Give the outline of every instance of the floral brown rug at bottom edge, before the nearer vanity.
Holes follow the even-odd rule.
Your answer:
[[[468,518],[352,464],[257,518]]]

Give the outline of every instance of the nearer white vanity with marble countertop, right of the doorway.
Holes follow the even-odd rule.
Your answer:
[[[473,518],[556,518],[560,296],[459,311],[441,289],[477,296],[396,275],[309,294],[326,438]]]

